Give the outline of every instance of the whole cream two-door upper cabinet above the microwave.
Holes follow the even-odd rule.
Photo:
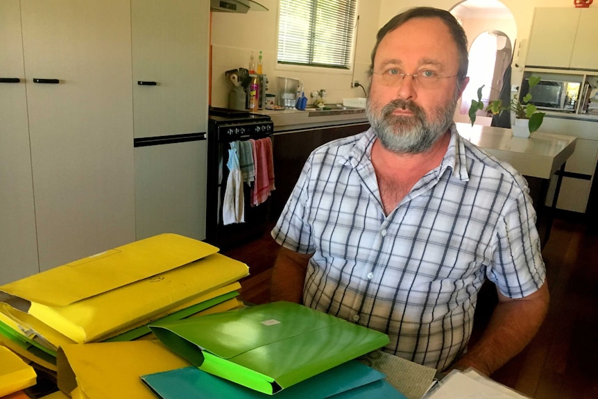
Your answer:
[[[536,8],[526,65],[597,69],[598,9]]]

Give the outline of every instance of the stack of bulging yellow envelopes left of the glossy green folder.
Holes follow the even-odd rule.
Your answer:
[[[60,346],[128,341],[160,319],[239,307],[246,275],[215,246],[157,235],[0,286],[0,340],[55,371]]]

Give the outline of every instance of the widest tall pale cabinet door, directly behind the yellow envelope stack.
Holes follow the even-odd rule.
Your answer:
[[[43,271],[135,240],[130,3],[22,0],[22,27]]]

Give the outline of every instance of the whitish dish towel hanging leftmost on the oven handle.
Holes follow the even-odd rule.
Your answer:
[[[245,221],[245,200],[243,196],[243,178],[239,168],[237,151],[233,148],[228,150],[228,179],[224,192],[222,204],[222,223],[226,226],[232,223],[243,223]]]

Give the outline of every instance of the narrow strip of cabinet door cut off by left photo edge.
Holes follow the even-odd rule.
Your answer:
[[[39,271],[19,0],[0,1],[0,78],[2,285]]]

